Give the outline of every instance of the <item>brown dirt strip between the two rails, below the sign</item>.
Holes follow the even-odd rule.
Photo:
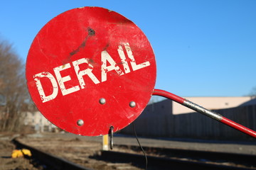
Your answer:
[[[101,142],[81,140],[79,137],[19,137],[18,140],[31,147],[36,147],[57,157],[67,159],[75,164],[80,164],[89,169],[112,170],[134,169],[140,170],[132,164],[120,164],[100,160]],[[117,150],[117,148],[116,148]]]

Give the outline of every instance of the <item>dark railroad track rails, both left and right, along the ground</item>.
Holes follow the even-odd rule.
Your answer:
[[[73,162],[55,157],[36,148],[26,146],[17,140],[14,143],[23,148],[30,149],[33,158],[45,164],[47,169],[79,169],[89,170]],[[144,168],[144,155],[139,153],[139,147],[127,145],[114,145],[119,149],[132,150],[133,153],[102,151],[95,159],[112,162],[109,164],[131,163]],[[205,152],[187,149],[166,149],[159,147],[144,147],[150,169],[256,169],[256,156],[249,154],[230,154],[223,152]],[[134,154],[137,153],[138,154]],[[128,167],[127,169],[131,169]]]

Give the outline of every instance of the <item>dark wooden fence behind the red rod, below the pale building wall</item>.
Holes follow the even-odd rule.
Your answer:
[[[256,106],[241,106],[215,111],[221,115],[256,130]],[[144,137],[176,137],[205,140],[254,140],[238,130],[223,125],[201,113],[172,114],[172,101],[165,100],[147,106],[134,121],[138,135]],[[124,134],[133,134],[132,126]]]

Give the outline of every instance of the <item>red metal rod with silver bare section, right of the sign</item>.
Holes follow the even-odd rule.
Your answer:
[[[196,103],[188,101],[185,98],[181,98],[180,96],[176,96],[175,94],[171,94],[168,91],[163,91],[163,90],[159,90],[159,89],[154,89],[153,95],[163,96],[163,97],[169,98],[172,101],[176,101],[177,103],[180,103],[181,105],[186,106],[187,108],[191,108],[193,111],[197,111],[198,113],[202,113],[203,115],[207,115],[208,117],[213,118],[215,120],[218,120],[219,122],[224,123],[225,125],[228,125],[231,128],[235,128],[236,130],[239,130],[240,132],[244,132],[245,134],[256,138],[256,132],[254,130],[246,128],[245,126],[240,125],[239,123],[235,123],[234,121],[223,117],[223,115],[220,115],[220,114],[215,113],[213,111],[209,111],[206,108],[198,106]]]

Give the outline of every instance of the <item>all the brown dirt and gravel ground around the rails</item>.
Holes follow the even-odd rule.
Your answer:
[[[18,136],[18,135],[16,135]],[[1,135],[0,134],[0,170],[11,169],[32,169],[32,170],[46,170],[43,165],[33,162],[29,159],[18,158],[12,159],[11,152],[15,146],[11,143],[11,139],[15,135]],[[120,162],[107,162],[100,158],[100,151],[102,149],[102,137],[82,137],[79,135],[72,135],[69,133],[43,133],[19,135],[18,141],[36,149],[53,154],[57,157],[66,159],[75,164],[80,164],[88,169],[95,170],[113,170],[113,169],[144,169],[142,164],[137,166],[134,162],[128,164]],[[134,145],[135,139],[131,137],[115,137],[114,144],[119,145]],[[206,150],[213,152],[230,152],[238,154],[256,154],[255,143],[237,144],[237,143],[207,143],[207,142],[184,142],[184,141],[167,141],[141,138],[140,141],[146,146],[161,146],[166,148],[183,148]],[[142,152],[135,152],[132,149],[124,147],[117,147],[114,145],[113,151],[129,152],[142,154]],[[162,157],[159,153],[146,153],[151,156]],[[165,157],[165,156],[163,156]]]

